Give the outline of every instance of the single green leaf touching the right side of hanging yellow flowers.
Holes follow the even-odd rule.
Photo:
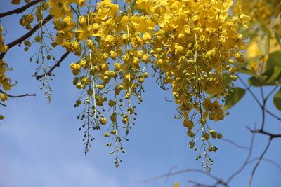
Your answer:
[[[224,106],[224,111],[233,107],[237,102],[244,97],[246,90],[243,88],[235,87],[230,90],[230,95],[226,96],[226,104]]]

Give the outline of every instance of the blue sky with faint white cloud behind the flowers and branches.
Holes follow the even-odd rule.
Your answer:
[[[18,8],[11,6],[10,1],[0,1],[0,13]],[[19,24],[21,15],[13,15],[1,19],[7,29],[5,43],[22,36],[27,32]],[[64,53],[58,51],[57,58]],[[201,183],[212,183],[212,179],[204,174],[193,172],[170,176],[169,180],[158,179],[147,183],[138,183],[145,179],[166,174],[173,167],[178,169],[204,169],[200,161],[195,161],[197,152],[188,148],[190,139],[181,120],[174,119],[176,104],[166,102],[171,99],[171,91],[164,92],[153,78],[145,82],[143,103],[136,108],[138,118],[130,131],[130,141],[124,144],[126,154],[122,155],[119,169],[113,164],[114,156],[107,148],[107,139],[103,132],[93,132],[96,140],[87,156],[82,144],[83,134],[78,131],[81,123],[76,119],[80,108],[73,104],[80,91],[72,85],[73,75],[70,63],[75,62],[73,56],[67,57],[61,66],[55,69],[55,80],[51,81],[52,100],[48,104],[44,90],[40,90],[41,82],[31,77],[36,64],[29,62],[35,48],[25,52],[15,46],[4,57],[13,67],[8,76],[18,85],[9,94],[22,95],[36,93],[36,97],[8,99],[6,108],[1,106],[5,120],[0,124],[0,186],[1,187],[61,187],[61,186],[99,186],[99,187],[150,187],[172,186],[175,181],[182,186],[188,180]],[[51,63],[55,63],[51,61]],[[245,78],[245,77],[244,77]],[[241,85],[237,81],[237,85]],[[259,95],[259,90],[254,89]],[[268,89],[266,89],[268,91]],[[259,95],[260,97],[260,95]],[[268,101],[268,109],[280,116],[280,111],[273,106],[272,98]],[[237,144],[249,146],[251,133],[246,125],[258,127],[261,124],[261,110],[247,92],[242,102],[229,110],[230,116],[219,123],[209,123],[226,139]],[[281,123],[266,116],[266,130],[280,134]],[[213,140],[212,140],[213,141]],[[214,166],[212,174],[223,179],[240,168],[247,158],[247,150],[236,148],[225,141],[214,140],[218,151],[212,153]],[[268,137],[256,134],[252,158],[258,157],[268,142]],[[280,139],[273,139],[265,158],[281,165]],[[247,165],[230,183],[231,186],[247,186],[254,162]],[[176,169],[173,169],[176,171]],[[281,170],[269,162],[261,161],[252,186],[280,186]],[[211,183],[210,183],[211,182]]]

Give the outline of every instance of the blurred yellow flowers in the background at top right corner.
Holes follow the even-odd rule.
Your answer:
[[[237,6],[240,8],[239,11],[251,16],[251,20],[247,24],[249,28],[242,30],[243,34],[251,36],[249,38],[251,41],[247,46],[247,60],[249,61],[247,69],[260,75],[266,69],[268,60],[268,54],[265,54],[268,53],[268,50],[264,50],[267,43],[270,43],[269,53],[281,49],[274,36],[274,32],[279,36],[281,34],[281,27],[278,23],[281,16],[281,1],[237,1]],[[267,39],[268,36],[270,39]],[[260,58],[257,60],[259,55]]]

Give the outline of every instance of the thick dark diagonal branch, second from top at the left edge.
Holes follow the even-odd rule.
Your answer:
[[[42,20],[41,22],[39,22],[37,25],[35,25],[29,32],[27,32],[25,35],[21,36],[20,38],[12,41],[11,43],[8,43],[8,50],[10,48],[13,48],[13,46],[22,43],[22,41],[24,41],[25,39],[27,39],[28,37],[32,36],[32,34],[34,34],[34,32],[36,32],[40,27],[42,27],[43,25],[46,24],[46,22],[48,22],[49,20],[51,20],[53,18],[53,15],[48,15],[46,18],[44,18],[44,20]],[[6,54],[6,52],[2,52],[0,54],[0,59],[3,59],[4,55]]]

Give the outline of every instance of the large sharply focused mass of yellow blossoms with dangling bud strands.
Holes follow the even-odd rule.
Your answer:
[[[208,151],[218,149],[209,139],[222,135],[207,124],[228,114],[222,102],[237,79],[233,60],[244,62],[243,36],[237,30],[247,26],[249,16],[241,13],[240,5],[233,7],[233,0],[127,0],[121,4],[42,1],[20,24],[30,29],[34,16],[42,22],[48,11],[56,31],[55,36],[49,33],[51,46],[62,46],[79,57],[70,69],[74,86],[81,90],[74,107],[84,107],[77,118],[83,121],[79,130],[84,130],[85,153],[94,139],[91,130],[104,130],[118,167],[122,142],[129,140],[126,135],[136,120],[136,105],[143,101],[143,83],[152,75],[162,89],[171,86],[178,104],[176,118],[187,127],[190,148],[200,150],[197,159],[204,153],[202,165],[208,170],[213,162]],[[39,43],[45,39],[44,32],[34,38]],[[25,41],[25,45],[31,44]]]

